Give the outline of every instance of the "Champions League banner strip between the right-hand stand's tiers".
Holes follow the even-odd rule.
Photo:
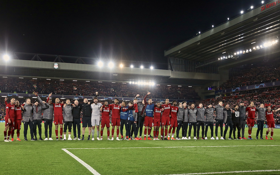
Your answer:
[[[237,88],[232,88],[232,89],[216,90],[215,94],[238,92],[238,91],[243,91],[243,90],[259,89],[259,88],[274,87],[274,86],[280,86],[280,81],[274,81],[274,82],[262,83],[262,84],[256,84],[256,85],[248,85],[248,86],[242,86],[242,87],[237,87]]]

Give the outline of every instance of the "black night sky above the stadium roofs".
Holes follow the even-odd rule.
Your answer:
[[[166,62],[164,50],[261,5],[240,1],[0,1],[0,50]]]

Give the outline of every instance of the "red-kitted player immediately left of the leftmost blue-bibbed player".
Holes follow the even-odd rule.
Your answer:
[[[120,120],[120,110],[122,108],[122,106],[118,105],[119,99],[115,99],[114,100],[114,104],[109,104],[108,106],[111,107],[111,111],[112,111],[112,121],[111,121],[111,125],[112,125],[112,139],[114,140],[114,132],[115,132],[115,126],[117,129],[117,138],[116,140],[120,140],[119,139],[119,132],[120,132],[120,125],[121,125],[121,120]]]

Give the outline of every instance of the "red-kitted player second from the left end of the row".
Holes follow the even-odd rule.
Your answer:
[[[5,104],[6,105],[8,104],[7,100],[8,100],[8,98],[5,97]],[[11,141],[14,141],[15,129],[17,129],[17,141],[21,141],[19,139],[20,129],[21,129],[21,120],[22,120],[21,112],[22,112],[22,108],[19,105],[19,101],[16,100],[15,101],[15,116],[14,116],[15,126],[13,127],[13,130],[11,132],[11,137],[12,137]]]

